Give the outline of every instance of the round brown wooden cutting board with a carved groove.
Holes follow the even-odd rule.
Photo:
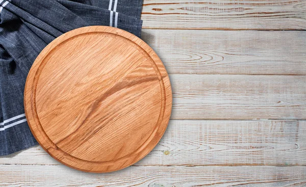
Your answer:
[[[24,108],[39,144],[87,172],[130,166],[159,142],[172,105],[167,71],[131,33],[109,26],[70,31],[35,60]]]

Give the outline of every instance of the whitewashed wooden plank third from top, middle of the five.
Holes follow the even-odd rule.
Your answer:
[[[306,119],[306,76],[170,75],[172,119]]]

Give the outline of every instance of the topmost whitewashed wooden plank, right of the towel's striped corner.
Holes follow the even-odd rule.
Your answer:
[[[305,30],[305,0],[145,0],[143,27],[153,29]]]

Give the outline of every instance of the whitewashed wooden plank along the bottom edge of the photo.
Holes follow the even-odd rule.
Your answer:
[[[306,167],[136,167],[84,173],[66,166],[2,165],[1,186],[304,186]]]

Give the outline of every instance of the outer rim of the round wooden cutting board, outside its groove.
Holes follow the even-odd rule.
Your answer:
[[[89,27],[85,27],[85,28],[80,28],[80,29],[76,29],[76,30],[73,30],[73,31],[70,31],[68,33],[65,33],[65,34],[61,35],[60,37],[55,39],[52,43],[47,45],[42,50],[41,54],[35,60],[32,68],[31,68],[31,70],[28,74],[27,81],[25,83],[25,89],[24,89],[24,109],[25,109],[25,115],[27,116],[28,123],[29,123],[30,129],[31,129],[34,137],[36,138],[38,143],[43,147],[43,149],[46,152],[48,152],[51,156],[53,156],[55,159],[57,159],[57,161],[61,162],[62,164],[66,165],[66,166],[69,166],[71,168],[78,169],[78,170],[81,170],[81,171],[96,172],[96,173],[111,172],[111,171],[116,171],[116,170],[119,170],[119,169],[99,170],[97,163],[94,163],[93,164],[94,166],[91,166],[90,169],[87,166],[85,166],[87,168],[76,167],[76,165],[79,165],[79,163],[75,162],[74,159],[69,158],[71,155],[68,155],[67,153],[65,154],[64,151],[63,151],[64,153],[59,154],[60,149],[49,139],[46,140],[46,139],[43,138],[43,136],[46,136],[46,135],[43,135],[43,132],[41,132],[41,129],[40,129],[39,125],[37,124],[37,119],[35,118],[35,112],[33,111],[33,104],[35,104],[35,101],[34,101],[35,99],[33,98],[33,93],[34,93],[34,90],[35,90],[35,86],[33,85],[33,83],[35,83],[35,82],[33,82],[33,81],[35,79],[35,75],[37,73],[37,70],[40,68],[40,65],[41,65],[41,62],[43,61],[43,59],[48,55],[48,53],[50,51],[52,51],[60,43],[66,41],[67,39],[69,39],[71,37],[77,36],[79,34],[88,33],[88,32],[107,32],[107,33],[120,35],[124,38],[127,38],[127,39],[133,41],[134,43],[139,45],[144,51],[146,51],[148,56],[155,63],[158,71],[161,73],[160,74],[161,77],[159,77],[159,79],[160,79],[160,83],[163,82],[163,88],[164,88],[164,91],[165,91],[164,92],[165,93],[165,95],[164,95],[164,97],[165,97],[165,101],[164,101],[165,102],[165,105],[164,105],[165,111],[164,111],[163,118],[162,118],[159,126],[161,126],[163,128],[157,129],[158,134],[156,136],[158,137],[158,139],[155,139],[156,136],[152,137],[150,139],[150,141],[147,143],[147,146],[144,147],[143,151],[145,152],[145,154],[141,154],[141,156],[140,156],[139,155],[140,153],[136,153],[135,156],[133,156],[133,157],[136,157],[136,158],[133,159],[133,162],[130,162],[130,164],[128,164],[128,165],[126,165],[122,168],[119,168],[119,169],[123,169],[125,167],[128,167],[128,166],[136,163],[141,158],[143,158],[146,154],[148,154],[149,151],[151,151],[157,145],[157,143],[161,139],[163,133],[165,132],[165,129],[166,129],[167,124],[168,124],[169,119],[170,119],[171,106],[172,106],[172,92],[171,92],[169,76],[168,76],[168,74],[165,70],[164,65],[162,64],[161,60],[159,59],[159,57],[156,55],[156,53],[145,42],[143,42],[138,37],[132,35],[131,33],[128,33],[126,31],[123,31],[123,30],[120,30],[120,29],[117,29],[117,28],[110,28],[109,26],[89,26]],[[30,96],[28,94],[30,94]],[[32,112],[28,113],[28,111],[32,111]],[[35,120],[36,120],[36,122],[35,122]],[[37,131],[38,131],[38,133],[34,133],[34,132],[37,132]],[[79,158],[77,158],[77,159],[79,159]],[[85,163],[88,163],[88,165],[92,165],[92,164],[90,164],[91,163],[90,161],[85,161]]]

